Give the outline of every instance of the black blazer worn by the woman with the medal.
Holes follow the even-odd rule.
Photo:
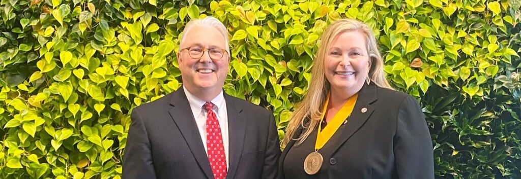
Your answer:
[[[362,113],[362,108],[367,111]],[[402,92],[364,85],[347,126],[330,156],[324,156],[323,178],[434,178],[432,142],[418,102]],[[300,136],[302,128],[296,132]],[[280,158],[284,177],[284,158],[295,144],[292,140]],[[303,166],[304,164],[302,164]],[[301,179],[301,178],[285,178]]]

